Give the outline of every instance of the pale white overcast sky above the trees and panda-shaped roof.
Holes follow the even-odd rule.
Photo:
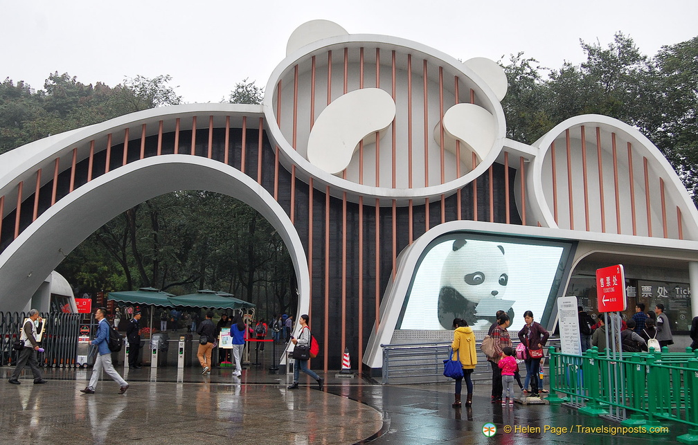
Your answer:
[[[461,60],[523,51],[542,66],[580,63],[579,39],[616,31],[641,52],[698,35],[698,1],[0,1],[0,80],[43,89],[50,73],[110,86],[172,76],[187,103],[220,102],[244,78],[266,86],[300,24],[415,40]]]

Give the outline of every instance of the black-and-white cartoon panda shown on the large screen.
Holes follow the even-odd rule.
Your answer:
[[[514,319],[512,304],[505,300],[509,269],[503,246],[491,241],[456,239],[441,270],[438,319],[452,329],[461,318],[473,329],[488,329],[498,310]]]

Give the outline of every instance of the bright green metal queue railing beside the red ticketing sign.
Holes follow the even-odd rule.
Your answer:
[[[554,347],[549,352],[549,402],[567,402],[583,414],[609,416],[627,426],[684,423],[688,434],[678,441],[698,444],[698,350],[651,349],[622,358],[595,347],[581,356]]]

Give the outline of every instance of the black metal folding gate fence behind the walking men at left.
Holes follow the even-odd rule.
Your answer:
[[[82,314],[62,312],[41,313],[46,324],[41,345],[45,352],[38,355],[40,365],[52,368],[75,368],[77,366],[77,339],[80,335]],[[14,365],[18,352],[12,348],[20,337],[25,312],[0,312],[0,365]],[[91,320],[90,332],[93,321]]]

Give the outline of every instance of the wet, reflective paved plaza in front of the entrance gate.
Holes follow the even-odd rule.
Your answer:
[[[243,371],[230,368],[117,370],[130,388],[109,377],[87,395],[91,369],[47,368],[47,384],[34,385],[25,369],[20,385],[7,382],[13,367],[0,368],[0,443],[191,444],[655,444],[675,442],[687,428],[663,423],[669,434],[622,434],[601,418],[560,405],[502,407],[489,402],[487,381],[476,382],[473,407],[454,409],[453,384],[383,386],[372,379],[335,377],[327,372],[324,391],[302,375],[301,388],[286,389],[285,374],[267,365]],[[283,370],[282,370],[283,371]],[[322,372],[320,372],[322,375]],[[465,395],[463,395],[463,401]],[[483,427],[493,423],[493,437]],[[545,427],[567,428],[551,431]],[[512,428],[508,432],[507,428]],[[526,431],[526,428],[529,428]]]

